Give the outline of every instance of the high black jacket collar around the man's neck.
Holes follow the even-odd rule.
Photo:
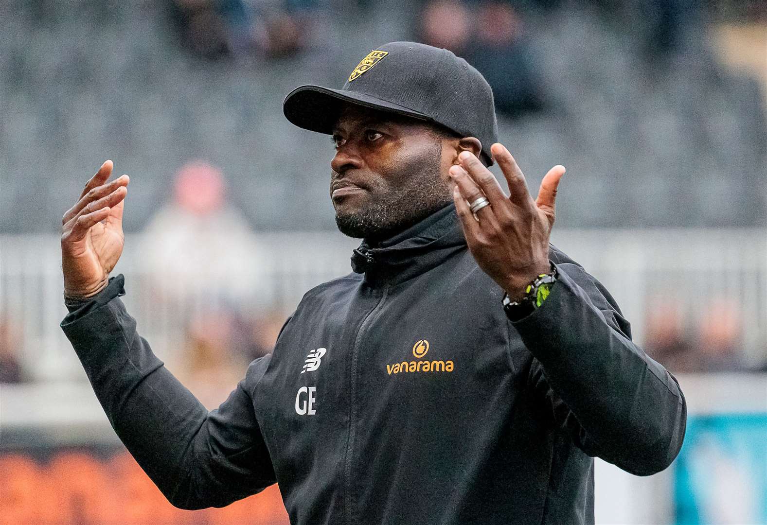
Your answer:
[[[370,286],[387,286],[416,277],[463,248],[456,207],[449,204],[385,241],[362,241],[351,256],[351,268],[364,273]]]

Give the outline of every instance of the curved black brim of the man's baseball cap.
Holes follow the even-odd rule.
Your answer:
[[[420,120],[431,120],[423,113],[367,94],[311,85],[292,90],[282,103],[282,112],[291,123],[304,130],[331,135],[338,116],[347,103],[412,116]]]

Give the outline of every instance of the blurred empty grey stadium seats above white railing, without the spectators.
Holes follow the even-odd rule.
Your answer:
[[[129,231],[194,158],[222,167],[255,228],[333,228],[330,143],[292,127],[281,100],[298,84],[340,86],[369,48],[414,38],[401,2],[348,3],[344,17],[319,12],[302,54],[206,61],[184,51],[162,2],[4,2],[0,231],[58,229],[107,157],[133,177]],[[529,15],[548,110],[503,119],[501,136],[534,191],[567,166],[560,224],[763,224],[762,94],[714,60],[703,29],[659,65],[588,8]]]

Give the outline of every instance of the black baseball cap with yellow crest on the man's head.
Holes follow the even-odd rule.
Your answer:
[[[390,42],[370,51],[344,87],[306,85],[292,90],[282,110],[305,130],[333,133],[345,103],[411,116],[475,136],[481,156],[492,164],[498,142],[495,103],[485,77],[452,51],[416,42]]]

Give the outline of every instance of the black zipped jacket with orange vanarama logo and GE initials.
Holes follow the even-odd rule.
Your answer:
[[[307,248],[311,257],[311,249]],[[291,523],[594,523],[594,460],[667,468],[686,405],[602,285],[558,281],[510,322],[449,205],[355,251],[208,412],[152,353],[113,278],[61,327],[117,435],[176,507],[278,482]]]

